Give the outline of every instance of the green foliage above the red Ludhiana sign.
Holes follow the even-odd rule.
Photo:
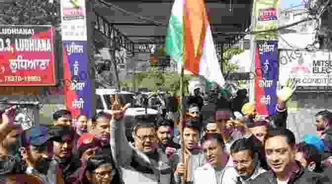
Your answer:
[[[14,0],[0,7],[0,24],[57,25],[60,21],[60,4],[55,1]]]

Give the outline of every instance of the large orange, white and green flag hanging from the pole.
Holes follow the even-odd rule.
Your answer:
[[[204,0],[175,0],[166,34],[166,52],[190,74],[224,85]]]

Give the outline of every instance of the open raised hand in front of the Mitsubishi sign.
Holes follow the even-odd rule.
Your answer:
[[[295,79],[288,79],[284,88],[277,91],[278,103],[286,103],[295,92],[297,84]]]

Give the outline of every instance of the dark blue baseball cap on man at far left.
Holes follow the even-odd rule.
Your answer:
[[[28,144],[42,145],[49,139],[48,128],[44,126],[32,127],[25,131],[24,140]]]

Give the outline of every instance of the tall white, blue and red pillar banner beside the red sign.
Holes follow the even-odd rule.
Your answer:
[[[65,104],[75,118],[91,118],[91,82],[88,79],[86,0],[61,0]]]

